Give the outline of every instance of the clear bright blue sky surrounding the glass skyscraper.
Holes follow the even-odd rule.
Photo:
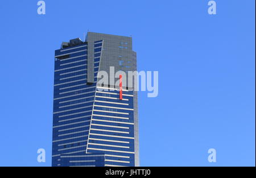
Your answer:
[[[51,165],[54,51],[87,30],[132,35],[139,71],[159,71],[158,97],[139,93],[142,166],[255,165],[254,0],[37,2],[0,3],[0,165]]]

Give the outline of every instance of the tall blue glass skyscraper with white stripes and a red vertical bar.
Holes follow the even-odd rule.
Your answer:
[[[131,37],[88,32],[55,51],[52,166],[139,166],[134,79],[112,69],[137,71]]]

